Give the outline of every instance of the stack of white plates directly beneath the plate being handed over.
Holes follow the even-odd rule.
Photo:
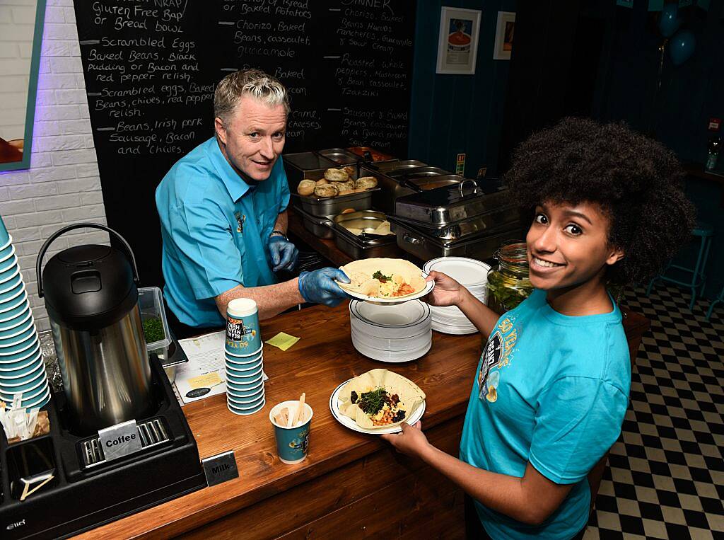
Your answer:
[[[352,300],[350,326],[355,349],[380,362],[417,360],[432,346],[430,307],[419,300],[380,305]]]

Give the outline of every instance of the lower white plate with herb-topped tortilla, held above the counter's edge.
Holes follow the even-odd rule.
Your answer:
[[[387,402],[385,396],[379,395],[382,394],[382,392],[379,392],[379,389],[384,389],[384,393],[390,396],[390,398],[395,395],[397,398],[400,398],[400,401],[397,402],[398,406],[392,407],[390,410],[392,414],[397,414],[400,410],[403,410],[405,412],[405,418],[397,422],[392,422],[387,426],[380,425],[379,427],[364,428],[362,425],[369,425],[371,420],[369,414],[359,409],[356,403],[350,403],[352,391],[360,391],[356,401],[359,401],[361,396],[364,395],[364,402],[374,406],[374,403],[379,404],[380,400]],[[369,393],[363,390],[369,390]],[[374,395],[366,395],[373,394],[373,392]],[[409,407],[411,411],[408,412],[402,409],[399,406],[400,404],[402,407]],[[389,402],[387,402],[387,405],[389,407]],[[392,371],[388,370],[376,369],[363,373],[358,377],[351,378],[349,381],[345,381],[340,384],[340,386],[337,386],[332,392],[332,396],[329,397],[329,410],[332,411],[332,416],[334,416],[337,422],[344,425],[345,428],[350,428],[359,433],[368,433],[370,435],[400,433],[400,431],[402,431],[400,427],[401,423],[407,422],[413,425],[422,418],[425,412],[425,394],[415,383],[404,378],[402,375],[397,375],[397,373],[392,373]],[[384,414],[389,415],[389,413]],[[352,415],[355,418],[353,418]]]

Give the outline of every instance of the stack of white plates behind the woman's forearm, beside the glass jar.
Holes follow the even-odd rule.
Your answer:
[[[476,259],[467,257],[439,257],[425,263],[423,270],[427,273],[442,272],[463,285],[476,299],[483,304],[488,303],[488,271],[490,266]],[[455,306],[431,306],[432,329],[442,333],[466,334],[476,333],[477,328],[468,317]]]

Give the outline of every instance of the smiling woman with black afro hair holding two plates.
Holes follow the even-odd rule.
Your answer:
[[[383,438],[466,491],[471,538],[583,536],[586,475],[618,439],[631,386],[607,283],[647,281],[689,238],[681,180],[675,156],[626,125],[566,118],[523,142],[505,176],[531,216],[531,296],[499,317],[431,273],[427,301],[459,307],[489,336],[460,457],[429,444],[420,423]]]

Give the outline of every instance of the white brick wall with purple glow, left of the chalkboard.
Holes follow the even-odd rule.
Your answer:
[[[0,6],[0,20],[5,5]],[[0,49],[0,60],[2,57]],[[0,86],[2,91],[13,91],[17,81],[6,84],[0,79]],[[106,224],[88,117],[73,2],[48,0],[30,170],[0,173],[0,216],[12,235],[41,331],[50,328],[35,280],[35,258],[43,242],[64,225],[80,221]],[[107,242],[103,231],[73,230],[56,240],[49,254],[71,245]],[[48,259],[46,255],[45,261]]]

